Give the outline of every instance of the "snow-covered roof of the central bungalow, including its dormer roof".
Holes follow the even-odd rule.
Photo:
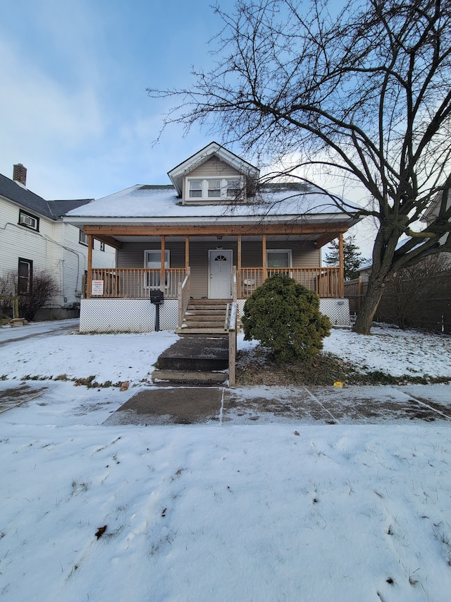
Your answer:
[[[214,200],[211,203],[181,203],[183,178],[211,157],[255,179],[259,169],[233,152],[211,142],[168,171],[173,185],[136,184],[123,191],[93,200],[68,211],[65,221],[82,228],[85,225],[198,225],[261,224],[294,222],[340,223],[350,227],[359,221],[361,207],[348,203],[344,212],[333,195],[299,182],[268,183],[254,187],[254,197],[235,203]],[[341,199],[340,199],[341,200]]]

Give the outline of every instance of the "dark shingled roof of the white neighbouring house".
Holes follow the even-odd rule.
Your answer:
[[[57,220],[69,210],[86,205],[93,199],[79,200],[45,200],[41,196],[25,188],[22,184],[0,174],[0,195],[20,205],[25,210],[37,213],[48,219]]]

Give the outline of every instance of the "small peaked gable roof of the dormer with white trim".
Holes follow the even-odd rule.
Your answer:
[[[240,171],[240,174],[245,174],[253,179],[259,177],[260,171],[257,167],[254,167],[254,165],[248,163],[241,157],[238,157],[235,153],[230,152],[230,150],[227,150],[217,142],[211,142],[198,152],[195,152],[191,157],[185,159],[185,161],[173,167],[171,171],[168,171],[168,176],[179,196],[182,195],[183,178],[187,174],[190,174],[193,169],[196,169],[199,165],[202,165],[202,163],[214,156],[230,165],[230,167]]]

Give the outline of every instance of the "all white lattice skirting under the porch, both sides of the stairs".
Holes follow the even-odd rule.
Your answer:
[[[238,319],[245,299],[238,299]],[[320,299],[321,313],[336,326],[350,325],[349,299]],[[167,299],[160,306],[160,330],[175,330],[178,301]],[[155,306],[149,299],[81,299],[80,332],[153,332]]]

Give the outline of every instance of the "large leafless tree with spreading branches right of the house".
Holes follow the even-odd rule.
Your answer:
[[[378,224],[355,325],[368,334],[393,273],[451,251],[450,0],[351,0],[339,12],[326,0],[239,0],[233,14],[216,11],[211,71],[149,95],[180,99],[164,126],[200,123],[244,152],[297,157],[295,173],[316,165],[363,184],[361,213]],[[436,199],[437,217],[419,225]]]

